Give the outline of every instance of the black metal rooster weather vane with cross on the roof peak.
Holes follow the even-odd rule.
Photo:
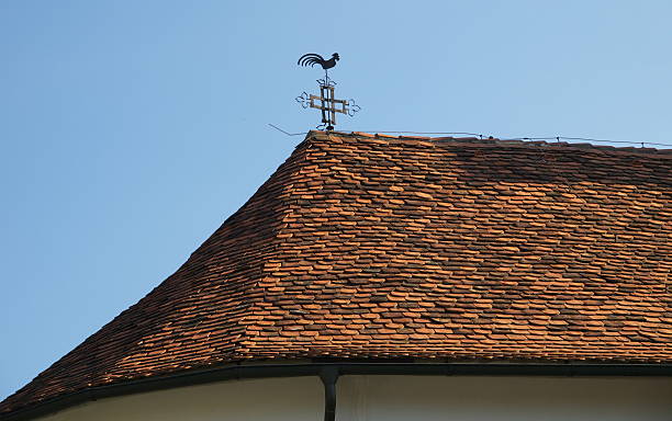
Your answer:
[[[312,95],[303,92],[300,96],[296,96],[296,102],[304,109],[317,109],[322,112],[322,123],[317,126],[320,129],[333,130],[336,124],[336,113],[352,116],[361,110],[360,106],[355,103],[355,100],[350,99],[345,101],[334,98],[336,82],[329,79],[328,69],[336,66],[339,59],[340,56],[338,53],[334,53],[328,60],[325,60],[318,54],[311,53],[301,56],[296,62],[299,66],[303,67],[320,65],[324,69],[324,79],[317,79],[320,95]]]

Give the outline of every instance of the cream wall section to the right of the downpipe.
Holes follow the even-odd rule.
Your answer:
[[[672,378],[358,376],[339,386],[340,420],[672,420]]]

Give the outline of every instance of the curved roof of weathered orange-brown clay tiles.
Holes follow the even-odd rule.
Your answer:
[[[240,361],[671,363],[671,163],[311,132],[175,274],[0,413]]]

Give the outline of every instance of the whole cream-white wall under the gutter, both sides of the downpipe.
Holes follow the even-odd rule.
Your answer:
[[[337,421],[669,421],[670,377],[343,376]],[[229,380],[101,399],[44,421],[322,421],[317,377]]]

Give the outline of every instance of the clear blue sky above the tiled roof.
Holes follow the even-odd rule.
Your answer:
[[[317,123],[671,143],[669,1],[0,2],[0,398],[172,273]]]

